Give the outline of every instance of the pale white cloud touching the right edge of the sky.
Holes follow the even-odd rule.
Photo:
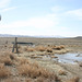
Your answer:
[[[79,20],[82,20],[82,9],[68,11],[68,12],[66,12],[66,14],[71,15],[72,17],[77,17]]]

